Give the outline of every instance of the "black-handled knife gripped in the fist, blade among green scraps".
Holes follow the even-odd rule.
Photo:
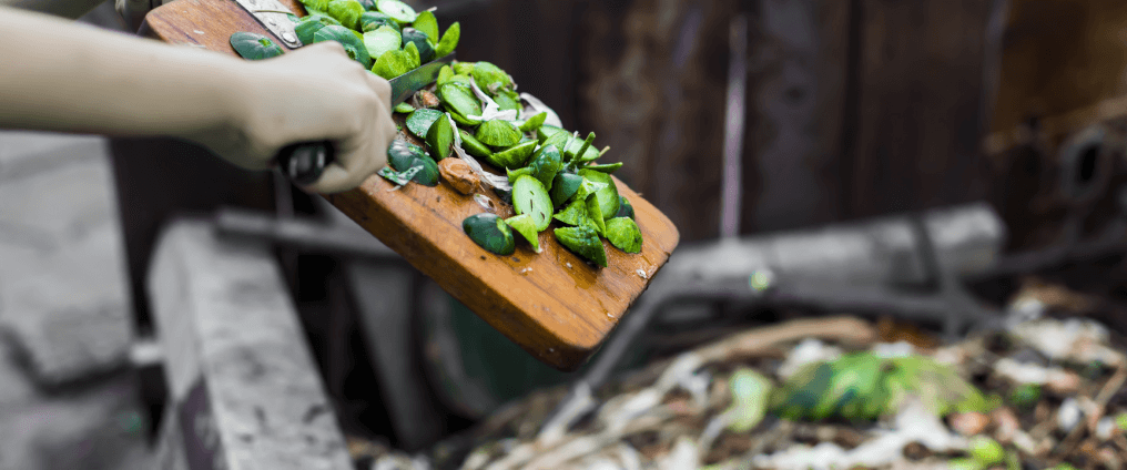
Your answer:
[[[453,62],[454,55],[452,52],[389,80],[391,107],[406,101],[416,91],[437,80],[438,71],[443,65]],[[301,186],[309,186],[317,183],[325,167],[336,160],[336,148],[330,141],[298,142],[282,148],[276,159],[278,168],[290,177],[290,180]]]

